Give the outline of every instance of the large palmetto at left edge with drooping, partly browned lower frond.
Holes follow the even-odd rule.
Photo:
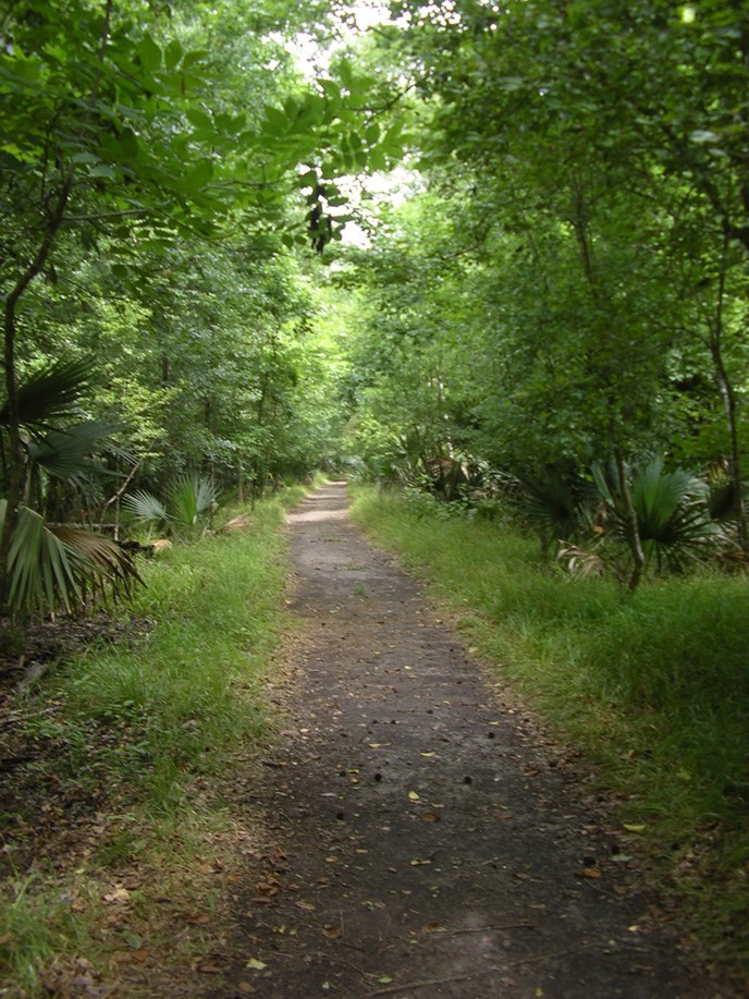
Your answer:
[[[88,361],[59,361],[19,387],[17,407],[25,449],[24,499],[15,512],[8,555],[7,610],[14,617],[33,611],[74,610],[107,593],[130,592],[139,581],[127,552],[108,538],[44,517],[50,480],[79,484],[97,471],[93,455],[114,429],[81,419],[77,405],[87,387]],[[8,425],[0,407],[0,431]],[[0,532],[8,502],[0,499]]]

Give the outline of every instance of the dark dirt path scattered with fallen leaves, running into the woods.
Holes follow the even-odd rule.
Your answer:
[[[278,848],[249,872],[221,995],[717,995],[648,919],[563,768],[346,505],[333,484],[290,517],[296,721],[247,802]]]

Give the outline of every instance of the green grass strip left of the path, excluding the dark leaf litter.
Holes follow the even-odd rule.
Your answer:
[[[97,901],[122,866],[149,872],[123,916],[128,939],[143,933],[138,921],[154,934],[164,899],[194,906],[196,892],[216,889],[205,860],[237,823],[221,779],[268,727],[262,680],[286,621],[279,528],[283,504],[303,495],[258,503],[249,529],[145,563],[130,644],[89,650],[19,705],[30,734],[61,747],[35,763],[38,779],[96,802],[102,831],[69,870],[40,854],[33,877],[17,872],[0,882],[3,994],[47,995],[49,968],[81,960],[107,974],[110,931],[97,924]],[[24,836],[12,824],[8,831]],[[73,906],[82,894],[86,904]]]

